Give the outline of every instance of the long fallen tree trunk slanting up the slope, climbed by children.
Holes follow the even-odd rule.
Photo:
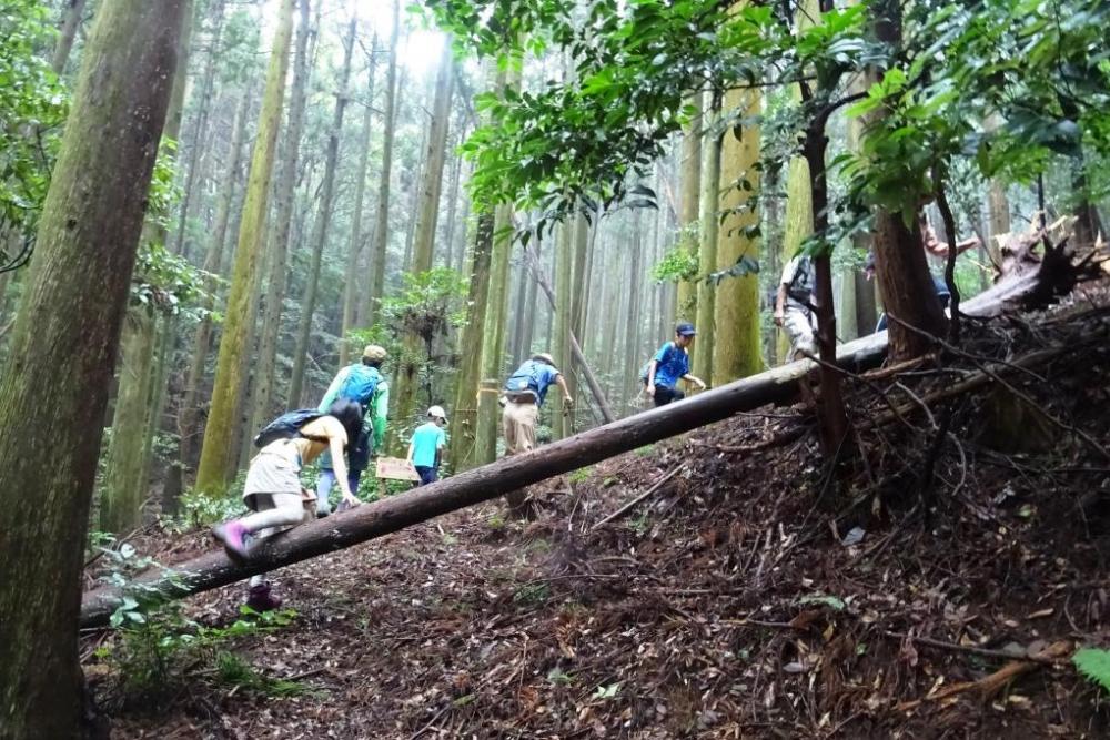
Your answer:
[[[1026,276],[1022,276],[1022,283],[1027,291],[1043,290]],[[991,295],[969,301],[963,310],[969,315],[993,315],[1000,311],[1001,301],[1022,298],[1025,294],[1021,291],[993,291]],[[887,333],[879,332],[841,346],[837,361],[846,369],[858,373],[878,366],[886,356],[886,349]],[[382,537],[497,498],[523,486],[724,420],[737,412],[783,403],[796,396],[798,381],[816,367],[817,364],[809,359],[783,365],[524,455],[504,457],[430,486],[301,525],[262,540],[244,564],[233,562],[222,550],[213,550],[172,566],[172,571],[149,570],[135,578],[127,595],[167,600],[189,596]],[[85,594],[81,604],[81,626],[107,624],[124,595],[124,590],[118,587],[102,587]]]

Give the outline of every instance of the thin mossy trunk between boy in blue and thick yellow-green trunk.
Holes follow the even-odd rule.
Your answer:
[[[708,116],[705,130],[709,133],[706,136],[705,146],[702,149],[702,196],[698,201],[702,215],[698,232],[698,264],[703,265],[703,270],[715,270],[717,265],[717,231],[720,224],[717,217],[717,204],[720,202],[720,148],[724,134],[717,130],[720,110],[714,108]],[[714,325],[717,292],[713,282],[703,276],[697,284],[697,294],[694,374],[705,381],[706,385],[713,387],[718,381],[713,372],[713,348],[717,334]]]

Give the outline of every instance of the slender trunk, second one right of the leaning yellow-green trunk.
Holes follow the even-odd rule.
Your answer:
[[[312,335],[312,317],[316,313],[316,293],[320,287],[320,264],[327,243],[327,231],[332,222],[332,200],[335,195],[335,168],[339,164],[340,138],[343,134],[343,118],[349,100],[347,83],[351,80],[351,57],[354,52],[354,34],[357,22],[352,19],[343,42],[343,67],[340,72],[340,90],[335,98],[332,126],[327,132],[327,148],[324,152],[324,179],[320,183],[320,211],[312,226],[312,261],[309,277],[301,300],[301,321],[296,330],[296,347],[293,351],[293,374],[289,381],[290,408],[300,408],[304,395],[304,365],[309,355],[309,339]]]

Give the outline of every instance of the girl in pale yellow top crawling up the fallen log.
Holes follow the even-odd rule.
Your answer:
[[[357,506],[361,501],[347,485],[343,452],[361,429],[362,408],[346,399],[335,402],[326,414],[291,412],[263,429],[255,443],[264,446],[251,460],[243,486],[243,503],[253,514],[212,528],[228,557],[241,561],[250,556],[249,535],[269,537],[305,520],[301,468],[325,450],[335,462],[343,500]],[[271,595],[270,585],[259,575],[251,579],[246,604],[265,610],[276,608],[281,600]]]

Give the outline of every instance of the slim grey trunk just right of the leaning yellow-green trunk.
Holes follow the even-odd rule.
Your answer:
[[[289,123],[282,143],[281,171],[274,193],[278,212],[274,219],[274,243],[270,252],[270,276],[266,305],[259,330],[259,359],[255,369],[251,429],[260,429],[276,410],[273,406],[274,364],[278,359],[278,341],[281,316],[285,302],[286,265],[289,262],[290,231],[293,224],[293,194],[296,189],[296,168],[301,159],[301,133],[304,129],[304,105],[307,98],[309,75],[312,70],[312,51],[309,39],[313,29],[309,23],[309,0],[300,0],[300,24],[296,31],[296,59],[293,62],[293,88],[290,92]]]

